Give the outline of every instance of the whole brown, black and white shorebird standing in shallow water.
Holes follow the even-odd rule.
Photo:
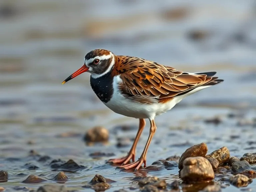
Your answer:
[[[117,56],[104,49],[86,54],[84,65],[62,84],[84,72],[91,73],[90,83],[98,98],[112,111],[139,119],[139,129],[128,155],[108,162],[122,163],[119,168],[138,170],[144,163],[156,131],[155,117],[172,109],[183,98],[201,89],[221,83],[216,72],[187,73],[138,57]],[[146,125],[150,133],[140,158],[135,148]],[[132,159],[133,163],[127,164]]]

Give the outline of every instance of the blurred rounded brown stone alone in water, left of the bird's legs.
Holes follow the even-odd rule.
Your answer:
[[[106,142],[108,141],[108,138],[108,130],[101,126],[89,129],[84,136],[86,142]]]

